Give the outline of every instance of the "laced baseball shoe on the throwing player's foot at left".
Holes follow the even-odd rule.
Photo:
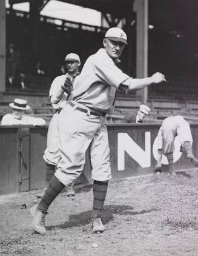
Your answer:
[[[47,215],[47,212],[41,211],[37,208],[38,205],[35,205],[30,208],[30,214],[33,217],[33,221],[31,223],[31,227],[34,231],[41,235],[46,234],[45,229],[45,216]]]

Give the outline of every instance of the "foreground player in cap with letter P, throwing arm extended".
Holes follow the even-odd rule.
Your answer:
[[[44,197],[38,206],[30,209],[33,216],[32,227],[39,234],[46,233],[45,216],[51,202],[65,186],[72,184],[81,175],[88,146],[93,167],[91,224],[93,232],[105,230],[101,212],[108,181],[111,179],[106,114],[113,111],[116,90],[127,93],[165,81],[165,76],[159,72],[147,78],[132,79],[116,66],[127,45],[127,35],[122,29],[109,29],[103,45],[104,48],[99,49],[85,62],[81,75],[74,82],[72,99],[58,117],[61,160]]]

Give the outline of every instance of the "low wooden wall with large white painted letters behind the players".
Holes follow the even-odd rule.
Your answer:
[[[46,186],[45,162],[42,159],[47,126],[0,126],[0,195],[12,194]],[[108,124],[110,161],[113,178],[133,177],[153,172],[156,164],[156,136],[159,124]],[[198,124],[191,125],[194,144],[198,150]],[[176,170],[193,168],[185,153],[179,152],[176,141],[174,158]],[[78,183],[91,183],[91,164],[88,157]],[[165,160],[163,160],[165,161]],[[166,170],[166,165],[164,165]]]

